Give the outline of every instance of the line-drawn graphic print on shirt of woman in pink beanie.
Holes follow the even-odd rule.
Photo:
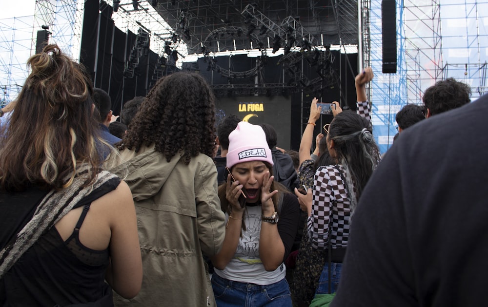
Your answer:
[[[245,219],[247,230],[243,232],[236,251],[236,254],[243,255],[243,257],[238,256],[237,259],[249,264],[261,263],[259,258],[261,214],[249,213],[249,211],[247,213]]]

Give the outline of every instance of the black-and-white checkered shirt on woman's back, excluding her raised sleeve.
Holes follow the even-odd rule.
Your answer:
[[[347,247],[349,238],[349,199],[341,178],[341,165],[320,167],[314,176],[312,214],[307,219],[307,232],[314,249],[327,249],[329,219],[332,218],[332,248]]]

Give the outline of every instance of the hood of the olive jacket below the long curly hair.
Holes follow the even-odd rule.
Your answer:
[[[175,154],[167,162],[163,153],[155,150],[154,144],[149,147],[143,146],[137,153],[129,149],[119,153],[110,154],[104,167],[129,185],[135,201],[148,199],[157,194],[180,162],[182,154]]]

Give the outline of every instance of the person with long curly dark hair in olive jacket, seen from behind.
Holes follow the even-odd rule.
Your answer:
[[[197,112],[188,113],[190,107]],[[220,251],[225,235],[210,157],[214,120],[203,77],[163,77],[133,118],[120,155],[105,162],[112,172],[127,173],[143,259],[141,292],[131,301],[116,296],[117,306],[215,306],[203,261]]]

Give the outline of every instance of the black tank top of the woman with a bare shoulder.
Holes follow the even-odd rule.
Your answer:
[[[78,231],[91,202],[114,190],[119,183],[117,178],[109,180],[75,206],[84,209],[66,241],[55,227],[41,235],[0,279],[0,306],[81,304],[97,301],[111,291],[104,282],[108,249],[86,248],[79,240]],[[8,235],[17,233],[30,220],[46,193],[37,188],[15,194],[0,193],[0,212],[8,212],[5,218],[0,215],[0,248],[7,244]]]

